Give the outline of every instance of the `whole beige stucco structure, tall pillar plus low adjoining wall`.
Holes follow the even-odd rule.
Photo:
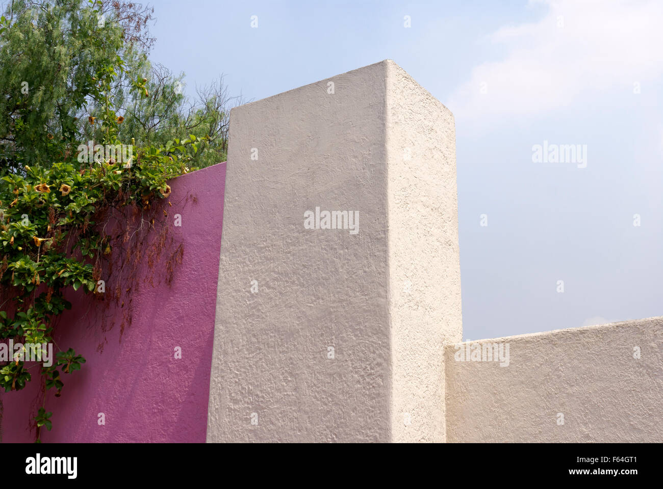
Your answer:
[[[452,113],[391,61],[231,112],[208,441],[663,441],[662,329],[457,361]]]

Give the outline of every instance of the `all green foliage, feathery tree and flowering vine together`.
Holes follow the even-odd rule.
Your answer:
[[[221,161],[225,114],[215,103],[182,113],[179,80],[150,80],[126,9],[137,7],[15,0],[0,18],[0,339],[54,343],[54,319],[71,307],[64,292],[98,293],[113,211],[149,209],[170,195],[168,179]],[[109,156],[123,144],[129,160]],[[85,362],[69,348],[38,364],[44,390],[59,397],[64,374]],[[21,358],[0,362],[0,387],[25,388],[29,368]],[[37,441],[51,416],[40,407]]]

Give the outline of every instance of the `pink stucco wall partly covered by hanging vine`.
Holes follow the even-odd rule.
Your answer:
[[[44,443],[205,441],[224,184],[225,163],[170,182],[172,194],[154,209],[167,229],[157,224],[137,246],[139,254],[127,258],[133,269],[111,274],[103,301],[80,292],[68,297],[72,311],[58,321],[56,343],[87,363],[62,374],[60,398],[47,392],[53,429],[42,429]],[[168,260],[178,256],[168,285]],[[41,394],[36,368],[31,372],[25,390],[0,393],[3,442],[34,441]],[[103,426],[98,413],[105,413]]]

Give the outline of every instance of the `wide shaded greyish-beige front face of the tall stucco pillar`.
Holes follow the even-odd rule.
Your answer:
[[[233,109],[227,165],[208,441],[387,440],[385,66]]]

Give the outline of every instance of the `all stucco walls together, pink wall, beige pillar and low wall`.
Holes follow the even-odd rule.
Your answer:
[[[663,317],[457,358],[453,115],[394,62],[237,107],[230,131],[227,168],[171,183],[115,300],[69,296],[56,341],[88,362],[48,392],[44,442],[663,441]],[[357,233],[306,229],[316,207]],[[1,441],[34,441],[38,387],[0,393]]]

